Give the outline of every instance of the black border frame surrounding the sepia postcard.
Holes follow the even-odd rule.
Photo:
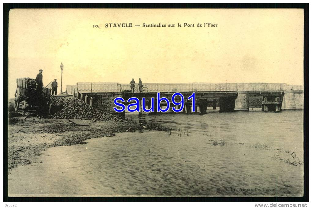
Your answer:
[[[301,8],[304,9],[303,197],[8,197],[8,17],[13,8]],[[309,202],[309,3],[3,3],[3,202]]]

